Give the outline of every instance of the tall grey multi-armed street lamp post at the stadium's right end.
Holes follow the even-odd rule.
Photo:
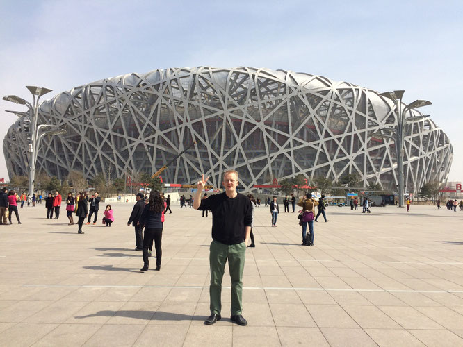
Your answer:
[[[397,153],[397,171],[398,171],[398,203],[399,207],[402,208],[404,205],[403,200],[403,155],[405,150],[403,148],[404,139],[405,139],[405,128],[407,124],[412,123],[414,121],[422,121],[423,119],[428,118],[429,116],[410,116],[405,117],[407,112],[411,112],[411,110],[415,108],[420,108],[427,105],[432,105],[430,101],[427,100],[416,100],[408,105],[403,107],[402,97],[405,90],[394,90],[393,92],[384,92],[380,94],[388,99],[391,99],[396,108],[393,110],[394,116],[397,120],[397,126],[395,128],[387,128],[387,130],[391,131],[392,135],[386,135],[381,133],[373,133],[371,136],[382,138],[382,139],[393,139],[396,143],[396,153]]]

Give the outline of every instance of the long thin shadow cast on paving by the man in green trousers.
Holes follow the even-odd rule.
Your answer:
[[[76,319],[85,319],[90,317],[127,317],[136,319],[159,320],[159,321],[205,321],[207,316],[191,316],[190,314],[179,314],[163,311],[99,311],[86,316],[76,316]]]

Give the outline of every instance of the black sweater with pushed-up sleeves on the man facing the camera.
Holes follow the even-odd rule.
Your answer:
[[[252,224],[252,206],[249,198],[237,194],[211,195],[201,200],[198,210],[212,211],[212,238],[222,244],[241,244],[245,239],[245,227]]]

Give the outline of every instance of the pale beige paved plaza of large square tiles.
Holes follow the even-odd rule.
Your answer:
[[[161,271],[153,257],[141,273],[132,204],[112,205],[113,226],[99,219],[85,235],[64,207],[46,219],[44,204],[0,226],[0,346],[463,346],[463,212],[330,207],[308,247],[296,213],[272,228],[261,205],[241,327],[229,320],[227,273],[223,318],[203,324],[211,215],[174,206]]]

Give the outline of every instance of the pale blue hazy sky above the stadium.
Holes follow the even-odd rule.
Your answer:
[[[0,0],[0,94],[168,67],[320,74],[432,101],[422,111],[453,144],[450,180],[463,180],[463,1],[321,2]],[[12,109],[0,101],[2,143]]]

